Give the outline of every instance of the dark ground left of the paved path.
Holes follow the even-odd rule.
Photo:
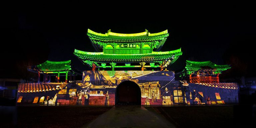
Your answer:
[[[1,128],[79,128],[112,106],[19,106],[3,109]],[[0,107],[1,109],[1,107]],[[2,115],[2,114],[1,114]]]

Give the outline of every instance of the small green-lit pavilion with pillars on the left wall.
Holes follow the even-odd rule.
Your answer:
[[[60,75],[64,73],[66,76],[65,81],[67,82],[68,74],[70,74],[70,80],[72,79],[72,76],[75,76],[75,74],[79,74],[76,71],[71,69],[70,64],[71,64],[71,60],[68,60],[68,61],[48,61],[47,60],[42,64],[29,66],[27,70],[38,73],[38,83],[40,82],[40,74],[44,74],[43,82],[47,82],[48,75],[49,75],[48,82],[51,81],[51,75],[56,75],[56,78],[57,78],[56,82],[60,82]]]

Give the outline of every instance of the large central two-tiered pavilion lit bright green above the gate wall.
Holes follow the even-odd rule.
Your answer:
[[[169,33],[167,30],[150,33],[147,30],[135,34],[114,33],[110,30],[97,33],[88,29],[87,35],[97,52],[86,52],[75,49],[74,55],[84,64],[95,63],[100,69],[105,68],[163,68],[174,63],[181,49],[160,52]]]

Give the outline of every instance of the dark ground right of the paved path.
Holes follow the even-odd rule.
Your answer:
[[[252,107],[249,106],[159,106],[145,108],[161,114],[179,128],[229,128],[254,127],[256,125],[255,118],[252,118]]]

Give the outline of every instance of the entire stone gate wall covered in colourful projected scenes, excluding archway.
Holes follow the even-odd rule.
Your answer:
[[[84,71],[82,81],[23,83],[17,105],[237,103],[236,83],[184,83],[172,71]]]

